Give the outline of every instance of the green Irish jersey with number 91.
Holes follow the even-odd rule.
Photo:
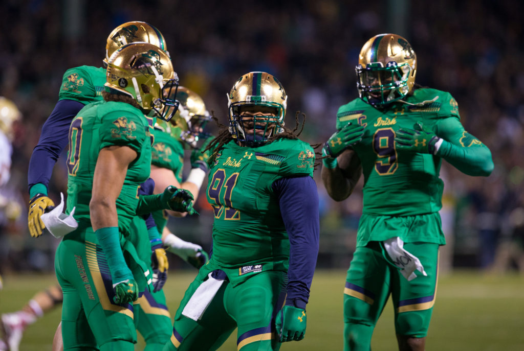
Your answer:
[[[285,177],[312,177],[314,160],[311,146],[298,139],[257,148],[234,141],[224,145],[206,191],[215,215],[213,264],[238,269],[287,263],[289,239],[272,184]]]

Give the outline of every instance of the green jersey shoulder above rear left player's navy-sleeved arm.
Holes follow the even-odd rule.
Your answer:
[[[58,99],[79,101],[84,105],[103,100],[106,70],[102,67],[79,66],[65,71]]]

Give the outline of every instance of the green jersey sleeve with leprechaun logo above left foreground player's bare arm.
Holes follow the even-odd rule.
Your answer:
[[[140,155],[142,146],[149,141],[145,118],[129,111],[112,111],[102,117],[100,149],[106,146],[129,146]]]

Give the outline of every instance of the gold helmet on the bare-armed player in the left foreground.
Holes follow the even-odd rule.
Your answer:
[[[108,61],[104,85],[132,96],[144,113],[154,110],[166,121],[178,109],[178,75],[166,52],[154,44],[134,42],[116,50]]]

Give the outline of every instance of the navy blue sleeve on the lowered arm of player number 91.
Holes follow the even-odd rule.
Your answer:
[[[280,178],[273,185],[289,235],[287,301],[305,309],[319,253],[319,196],[310,176]]]

